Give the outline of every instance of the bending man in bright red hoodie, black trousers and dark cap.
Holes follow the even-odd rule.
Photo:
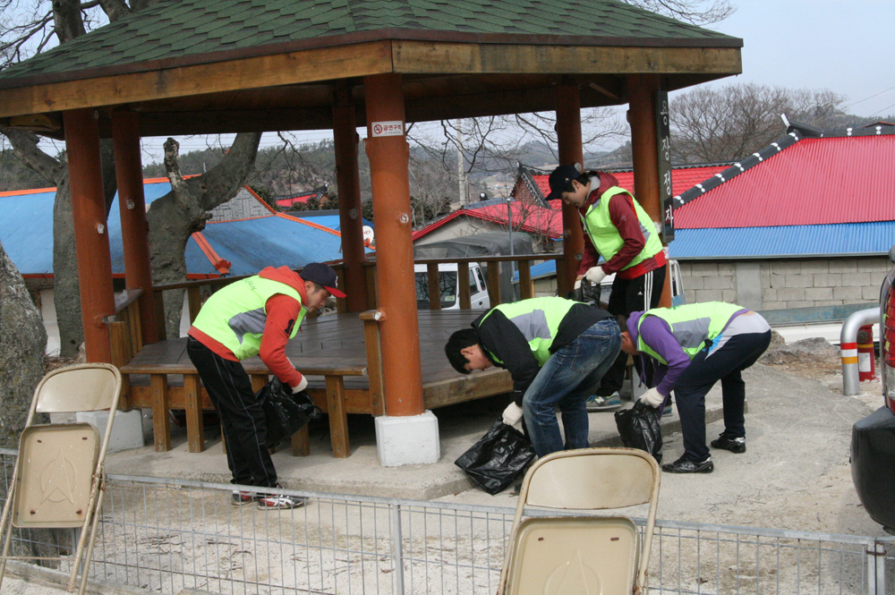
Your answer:
[[[330,295],[345,297],[336,281],[336,271],[318,262],[306,265],[301,276],[286,267],[268,267],[212,294],[193,322],[186,349],[220,415],[232,483],[279,487],[264,444],[264,411],[240,361],[260,355],[293,393],[304,390],[308,380],[286,357],[286,343],[308,311],[320,308]],[[234,505],[251,502],[270,510],[303,506],[304,498],[234,491]]]

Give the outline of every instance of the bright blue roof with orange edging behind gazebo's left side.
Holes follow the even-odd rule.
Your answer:
[[[147,204],[171,191],[167,182],[145,183]],[[0,243],[22,275],[53,274],[53,203],[55,189],[0,196]],[[124,274],[121,217],[115,196],[108,217],[112,273]],[[337,220],[337,216],[335,217]],[[326,225],[315,217],[317,225]],[[342,239],[337,234],[305,225],[288,217],[258,217],[241,221],[209,223],[202,231],[217,255],[232,263],[230,274],[253,275],[268,266],[303,267],[309,262],[342,258]],[[189,239],[184,254],[189,275],[217,275],[199,245]]]

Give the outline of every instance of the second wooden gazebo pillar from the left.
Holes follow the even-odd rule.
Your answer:
[[[149,268],[149,224],[143,196],[138,115],[126,111],[112,115],[112,145],[115,148],[118,210],[121,213],[121,239],[124,243],[124,286],[143,290],[140,296],[143,344],[158,343],[152,270]]]

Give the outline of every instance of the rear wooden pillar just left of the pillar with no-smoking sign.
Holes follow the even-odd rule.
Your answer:
[[[357,123],[351,91],[343,82],[333,103],[333,136],[336,148],[338,218],[345,259],[345,299],[349,312],[367,310],[367,277],[363,271],[363,217],[361,181],[357,168]]]

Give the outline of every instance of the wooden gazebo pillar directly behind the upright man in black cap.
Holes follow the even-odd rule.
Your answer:
[[[581,146],[581,96],[577,85],[560,85],[557,88],[557,140],[559,165],[576,163],[584,166],[584,149]],[[566,263],[566,285],[571,290],[584,254],[584,229],[578,209],[563,203],[563,260]],[[559,268],[557,268],[557,273]],[[557,282],[559,278],[557,277]],[[563,285],[558,283],[560,290]],[[560,296],[566,294],[560,291]]]

